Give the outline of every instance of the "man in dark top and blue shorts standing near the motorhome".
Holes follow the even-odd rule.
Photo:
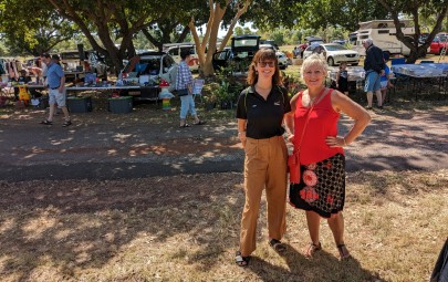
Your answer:
[[[383,98],[381,92],[379,77],[384,74],[384,59],[383,51],[373,44],[372,39],[363,40],[363,46],[365,48],[365,86],[364,91],[367,92],[367,108],[372,108],[373,93],[376,94],[378,107],[383,107]]]

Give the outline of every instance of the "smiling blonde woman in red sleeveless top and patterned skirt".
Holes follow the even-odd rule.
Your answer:
[[[371,122],[369,114],[338,91],[324,86],[327,64],[313,54],[302,64],[302,79],[308,88],[291,98],[285,121],[293,135],[290,140],[299,153],[300,179],[291,178],[290,203],[306,212],[311,243],[304,254],[312,257],[322,249],[319,240],[321,218],[326,218],[341,259],[350,258],[344,243],[345,156],[350,145]],[[343,112],[354,119],[345,136],[337,135]]]

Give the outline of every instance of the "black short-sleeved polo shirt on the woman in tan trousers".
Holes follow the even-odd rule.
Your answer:
[[[283,115],[290,111],[290,100],[284,87],[272,86],[264,101],[253,86],[249,86],[238,98],[237,118],[247,119],[247,137],[264,139],[283,135]]]

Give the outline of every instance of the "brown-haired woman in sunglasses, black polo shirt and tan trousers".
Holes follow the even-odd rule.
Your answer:
[[[269,244],[278,252],[285,230],[286,159],[283,115],[291,111],[288,91],[281,86],[275,52],[261,49],[249,66],[248,88],[237,107],[238,136],[244,148],[246,203],[241,218],[240,249],[236,262],[249,263],[256,250],[257,219],[265,187]]]

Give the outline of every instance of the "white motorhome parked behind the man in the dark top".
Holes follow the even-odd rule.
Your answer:
[[[410,20],[400,21],[402,31],[405,35],[413,36],[415,29],[411,27]],[[353,50],[357,51],[361,55],[365,55],[365,49],[362,44],[363,40],[372,39],[373,43],[383,50],[383,52],[390,54],[409,55],[410,50],[397,39],[396,28],[393,20],[374,20],[360,22],[360,29],[356,33],[356,41],[353,41]]]

